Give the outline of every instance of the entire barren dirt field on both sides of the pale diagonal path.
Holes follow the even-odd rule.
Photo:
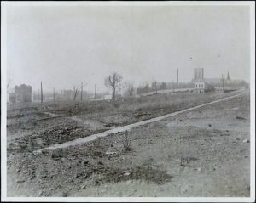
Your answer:
[[[87,144],[51,144],[236,93],[8,110],[8,196],[249,196],[249,94]]]

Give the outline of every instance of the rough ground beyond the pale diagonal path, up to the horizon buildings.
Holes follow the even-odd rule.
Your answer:
[[[8,110],[8,150],[32,152],[234,94],[180,93],[127,99],[116,103],[43,104]]]

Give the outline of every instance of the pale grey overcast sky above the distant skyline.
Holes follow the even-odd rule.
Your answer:
[[[190,82],[205,77],[249,81],[247,6],[9,6],[7,70],[12,86],[37,90],[88,82],[103,90],[113,71],[124,80]]]

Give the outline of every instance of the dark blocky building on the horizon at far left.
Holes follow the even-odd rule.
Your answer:
[[[15,86],[15,103],[32,102],[32,86],[22,84]]]

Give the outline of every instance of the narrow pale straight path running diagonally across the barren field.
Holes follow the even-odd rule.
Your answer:
[[[222,101],[225,101],[225,100],[228,100],[228,99],[232,99],[232,98],[235,98],[235,97],[239,97],[241,96],[243,93],[240,93],[240,94],[236,94],[236,95],[232,95],[230,97],[227,97],[227,98],[224,98],[224,99],[217,99],[215,101],[212,101],[212,102],[208,102],[206,104],[201,104],[201,105],[197,105],[195,107],[191,107],[191,108],[188,108],[186,110],[179,110],[177,112],[174,112],[174,113],[171,113],[171,114],[167,114],[167,115],[164,115],[164,116],[158,116],[158,117],[155,117],[155,118],[152,118],[152,119],[148,119],[146,121],[139,121],[139,122],[136,122],[136,123],[132,123],[130,125],[127,125],[127,126],[123,126],[123,127],[116,127],[116,128],[113,128],[113,129],[110,129],[108,131],[105,131],[105,132],[102,132],[102,133],[96,133],[96,134],[93,134],[93,135],[90,135],[88,137],[85,137],[85,138],[78,138],[78,139],[74,139],[73,141],[69,141],[67,143],[63,143],[63,144],[54,144],[54,145],[51,145],[47,148],[44,148],[44,149],[39,149],[39,150],[36,150],[34,151],[35,153],[41,153],[43,150],[45,149],[60,149],[60,148],[67,148],[69,146],[73,146],[73,145],[77,145],[77,144],[84,144],[84,143],[88,143],[90,141],[93,141],[95,140],[96,138],[102,138],[102,137],[106,137],[108,136],[109,134],[113,134],[113,133],[120,133],[120,132],[125,132],[125,131],[129,131],[131,130],[132,127],[139,127],[139,126],[143,126],[145,124],[148,124],[148,123],[151,123],[151,122],[154,122],[154,121],[160,121],[160,120],[163,120],[163,119],[166,119],[166,118],[169,118],[169,117],[172,117],[172,116],[177,116],[178,114],[181,114],[181,113],[184,113],[184,112],[187,112],[187,111],[190,111],[190,110],[196,110],[196,109],[199,109],[201,107],[204,107],[204,106],[207,106],[207,105],[211,105],[211,104],[215,104],[215,103],[218,103],[218,102],[222,102]],[[76,119],[76,121],[78,120],[78,118]],[[80,120],[80,119],[79,119]],[[81,120],[82,121],[82,120]]]

